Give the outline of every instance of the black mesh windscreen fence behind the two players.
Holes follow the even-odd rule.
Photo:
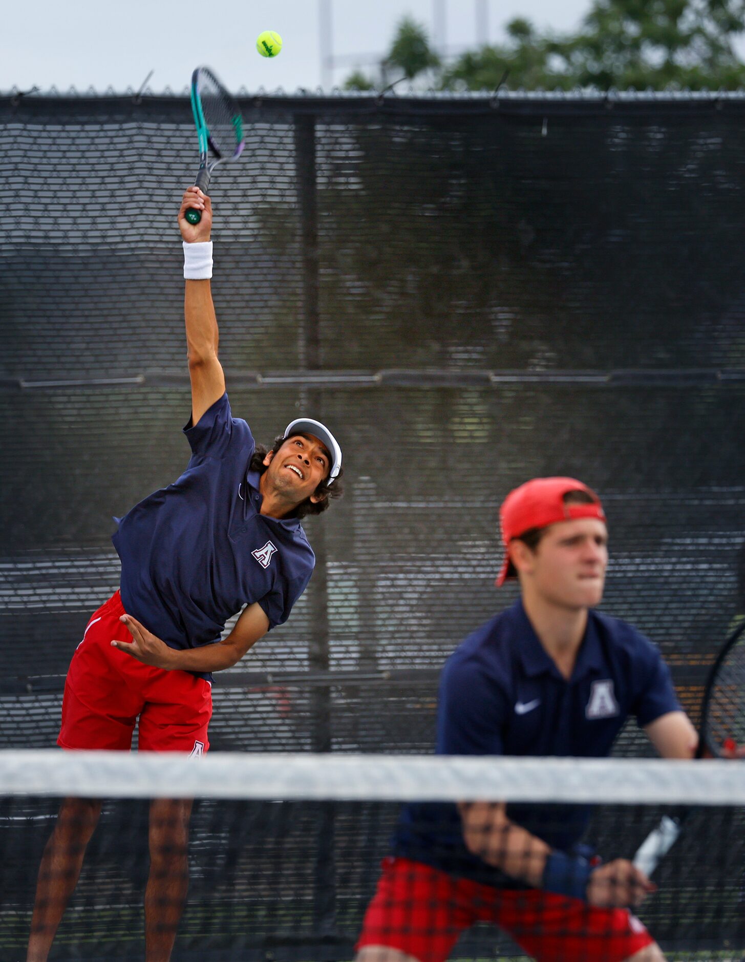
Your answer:
[[[499,504],[539,474],[602,494],[603,607],[658,643],[695,716],[745,604],[745,101],[241,109],[244,156],[211,185],[231,402],[264,442],[298,412],[326,421],[346,495],[306,523],[318,566],[288,623],[215,678],[212,747],[429,751],[444,658],[515,596],[493,588]],[[55,744],[67,664],[118,583],[111,518],[186,465],[176,212],[195,142],[186,98],[0,99],[0,747]],[[617,750],[648,748],[632,725]],[[32,861],[52,807],[22,815]],[[312,856],[298,849],[285,896],[255,917],[266,946],[300,926],[303,957],[326,957],[321,908],[280,919],[283,899],[322,857],[318,832],[345,851],[364,837],[363,877],[339,868],[323,897],[352,932],[392,809],[212,811],[195,816],[205,882],[192,875],[185,924],[222,924],[198,908],[220,859],[236,877],[252,820],[286,818]],[[701,932],[706,948],[716,932]]]

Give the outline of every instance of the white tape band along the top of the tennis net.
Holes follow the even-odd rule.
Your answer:
[[[745,764],[634,758],[0,751],[0,794],[745,805]]]

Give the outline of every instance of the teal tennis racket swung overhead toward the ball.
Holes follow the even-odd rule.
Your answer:
[[[207,66],[198,66],[191,75],[191,111],[199,138],[199,170],[194,183],[207,193],[214,168],[240,157],[245,143],[243,118],[236,101]],[[200,211],[186,211],[190,224],[201,219]]]

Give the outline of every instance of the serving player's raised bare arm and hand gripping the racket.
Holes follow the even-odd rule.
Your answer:
[[[186,211],[190,208],[196,208],[202,214],[202,219],[196,225],[186,220]],[[210,198],[197,187],[185,190],[179,210],[179,228],[184,241],[187,244],[210,243],[211,225]],[[198,253],[208,255],[207,248],[200,249]],[[211,261],[211,250],[205,259]],[[186,280],[184,316],[188,376],[191,381],[191,423],[196,424],[225,393],[225,376],[217,360],[219,336],[209,279]]]

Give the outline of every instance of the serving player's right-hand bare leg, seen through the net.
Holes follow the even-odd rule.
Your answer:
[[[188,888],[190,799],[150,804],[150,874],[145,890],[145,962],[168,962]]]

